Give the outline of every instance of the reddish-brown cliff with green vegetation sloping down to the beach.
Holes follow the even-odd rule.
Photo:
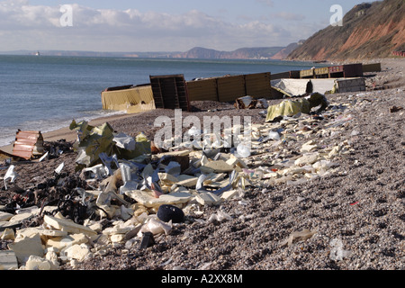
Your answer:
[[[356,5],[343,26],[318,31],[288,56],[293,60],[386,58],[405,50],[405,1]]]

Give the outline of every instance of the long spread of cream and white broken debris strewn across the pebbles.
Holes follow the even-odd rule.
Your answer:
[[[162,151],[142,133],[134,139],[114,132],[108,123],[93,127],[73,121],[79,179],[64,178],[63,166],[58,166],[52,188],[64,191],[62,199],[0,211],[0,237],[13,241],[9,250],[0,251],[0,267],[48,270],[67,262],[74,267],[103,256],[110,247],[147,248],[177,223],[210,225],[234,218],[220,210],[205,215],[204,205],[243,205],[251,189],[268,192],[279,184],[305,184],[338,173],[338,158],[350,154],[351,139],[335,142],[336,136],[352,120],[347,108],[359,104],[329,103],[321,114],[296,111],[278,121],[252,124],[247,153],[240,153],[241,147],[184,143]],[[4,184],[6,178],[13,182],[18,177],[13,168]],[[316,233],[310,232],[299,236]],[[292,245],[293,239],[283,244]]]

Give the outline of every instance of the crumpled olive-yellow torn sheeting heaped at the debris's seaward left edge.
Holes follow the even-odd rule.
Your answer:
[[[150,154],[150,141],[140,133],[136,139],[125,134],[114,134],[111,125],[106,122],[94,127],[86,121],[72,121],[70,130],[77,131],[74,148],[78,152],[76,163],[82,166],[94,166],[100,162],[100,154],[117,155],[118,158],[132,159]]]

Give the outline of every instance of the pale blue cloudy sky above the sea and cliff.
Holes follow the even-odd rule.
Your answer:
[[[69,2],[72,1],[72,2]],[[287,46],[359,0],[0,0],[0,51]]]

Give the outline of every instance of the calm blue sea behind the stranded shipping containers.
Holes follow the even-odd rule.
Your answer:
[[[0,146],[15,132],[47,132],[76,121],[109,115],[102,110],[106,87],[139,85],[149,76],[196,77],[279,73],[315,66],[269,60],[190,60],[0,55]]]

